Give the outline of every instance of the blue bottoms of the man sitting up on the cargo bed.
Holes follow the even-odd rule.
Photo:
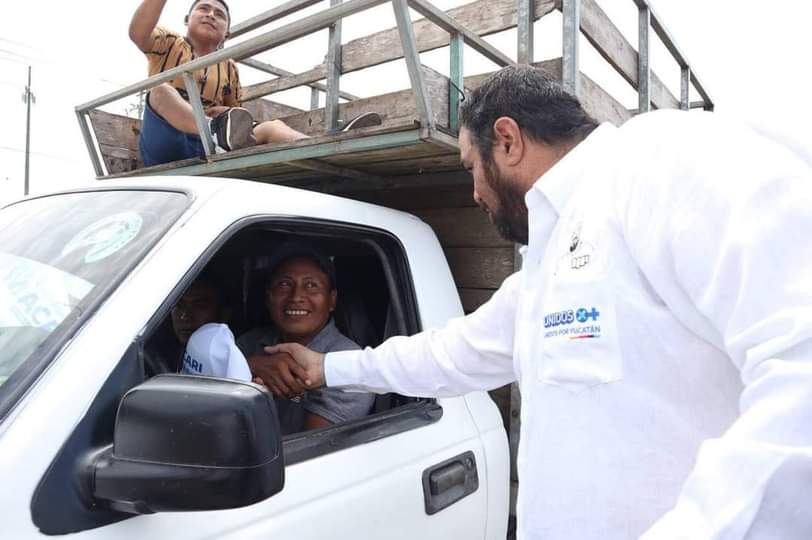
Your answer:
[[[147,96],[138,151],[144,166],[206,156],[200,137],[178,131],[152,110]]]

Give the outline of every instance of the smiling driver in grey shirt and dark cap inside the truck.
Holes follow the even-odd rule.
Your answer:
[[[276,396],[282,434],[366,416],[374,394],[329,388],[301,390],[290,371],[293,360],[264,352],[265,347],[286,341],[324,352],[360,348],[333,321],[338,291],[330,258],[308,244],[283,244],[274,251],[268,266],[264,294],[272,325],[247,332],[237,344],[248,358],[255,382],[267,385]],[[296,394],[297,388],[300,394]]]

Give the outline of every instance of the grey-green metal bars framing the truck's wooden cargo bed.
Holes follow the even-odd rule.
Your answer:
[[[233,38],[241,36],[247,32],[258,29],[263,25],[311,7],[320,1],[322,0],[290,0],[285,4],[277,6],[276,8],[268,10],[243,23],[235,25],[232,28],[231,37]],[[562,11],[564,24],[562,81],[571,92],[577,94],[579,78],[578,37],[579,30],[584,30],[581,27],[580,21],[580,7],[582,0],[560,1],[561,4],[558,7]],[[686,60],[685,55],[682,54],[682,52],[676,47],[673,39],[662,26],[657,16],[653,13],[651,7],[648,5],[647,0],[633,1],[637,4],[640,12],[640,52],[637,74],[639,81],[637,86],[640,98],[640,111],[648,110],[651,103],[649,86],[651,75],[648,47],[649,28],[653,28],[657,35],[660,36],[660,39],[665,44],[666,48],[668,48],[671,55],[676,59],[682,68],[681,108],[688,109],[696,106],[702,106],[706,109],[712,109],[713,103],[710,100],[707,92],[705,92],[704,88],[700,84],[699,80],[696,78],[695,74],[691,71],[690,64]],[[476,32],[473,32],[461,25],[446,12],[431,4],[430,0],[348,0],[346,2],[342,2],[342,0],[330,0],[330,7],[322,11],[269,30],[241,43],[230,45],[223,49],[214,51],[206,56],[194,59],[191,62],[169,69],[149,77],[148,79],[126,86],[120,90],[111,92],[76,107],[76,115],[79,120],[79,126],[85,144],[90,153],[91,161],[93,162],[93,167],[96,174],[98,176],[103,176],[104,169],[102,166],[102,160],[100,159],[98,149],[96,148],[96,144],[88,125],[88,116],[91,110],[180,77],[184,81],[184,85],[189,96],[189,102],[194,111],[196,126],[208,158],[214,154],[214,144],[212,142],[211,133],[208,129],[207,119],[203,111],[203,105],[200,100],[197,85],[194,81],[193,73],[197,70],[201,70],[208,66],[231,59],[252,68],[277,75],[278,77],[295,76],[286,70],[282,70],[275,66],[254,60],[250,57],[326,28],[330,30],[328,38],[328,54],[326,57],[326,84],[319,82],[308,82],[302,84],[302,86],[309,86],[311,88],[311,108],[316,108],[318,106],[320,98],[319,93],[326,93],[325,131],[327,133],[335,131],[338,128],[339,99],[358,99],[358,96],[342,92],[340,90],[341,21],[345,17],[361,13],[384,3],[392,4],[395,19],[397,21],[397,30],[400,43],[403,49],[403,58],[406,61],[409,79],[415,94],[418,120],[420,121],[421,126],[429,131],[436,128],[436,122],[434,120],[434,116],[432,115],[429,96],[426,93],[425,80],[420,65],[420,49],[417,45],[417,40],[415,39],[414,29],[412,26],[411,17],[409,15],[409,8],[414,9],[418,13],[422,14],[427,20],[449,33],[449,127],[452,130],[455,130],[458,123],[457,110],[462,99],[462,90],[464,88],[464,46],[468,45],[475,51],[482,54],[485,58],[491,60],[499,66],[513,64],[514,61],[509,56],[499,51],[496,47],[482,39]],[[533,23],[535,21],[533,14],[534,4],[534,0],[517,0],[517,57],[520,63],[531,63],[533,60]],[[623,75],[623,72],[617,66],[615,66],[615,68],[618,69],[618,71]],[[626,78],[629,79],[628,74],[626,74]],[[688,101],[690,83],[693,83],[694,87],[703,97],[702,102],[690,103]]]

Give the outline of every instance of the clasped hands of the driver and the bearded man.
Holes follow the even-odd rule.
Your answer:
[[[247,360],[255,383],[274,396],[290,398],[324,386],[324,356],[298,343],[281,343]]]

